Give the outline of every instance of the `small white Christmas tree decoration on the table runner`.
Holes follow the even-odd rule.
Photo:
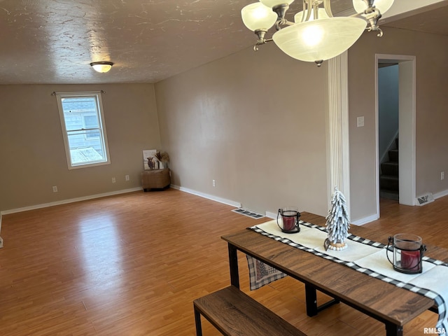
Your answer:
[[[325,240],[325,246],[332,250],[344,250],[347,248],[345,243],[349,235],[349,214],[346,207],[345,196],[335,187],[331,200],[332,207],[328,211],[327,230],[328,238]]]

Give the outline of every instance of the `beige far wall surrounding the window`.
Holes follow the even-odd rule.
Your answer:
[[[69,170],[51,93],[90,90],[105,91],[111,165]],[[0,85],[0,104],[0,211],[140,188],[142,151],[160,148],[152,84]]]

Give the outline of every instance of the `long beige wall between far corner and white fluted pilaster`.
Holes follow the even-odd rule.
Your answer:
[[[173,183],[262,214],[325,215],[326,76],[270,43],[157,83]]]

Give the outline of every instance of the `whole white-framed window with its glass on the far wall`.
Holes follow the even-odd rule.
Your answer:
[[[57,93],[69,169],[109,165],[101,92]]]

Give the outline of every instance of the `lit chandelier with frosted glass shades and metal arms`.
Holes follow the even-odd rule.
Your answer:
[[[352,0],[355,15],[334,17],[330,0],[303,0],[303,10],[294,16],[294,22],[285,19],[286,11],[294,0],[260,0],[241,9],[244,25],[258,36],[253,50],[269,41],[290,57],[305,62],[322,62],[349,49],[363,31],[383,32],[378,27],[381,13],[391,8],[393,0]],[[323,7],[320,5],[323,3]],[[265,38],[275,26],[272,38]],[[286,27],[285,27],[286,26]]]

